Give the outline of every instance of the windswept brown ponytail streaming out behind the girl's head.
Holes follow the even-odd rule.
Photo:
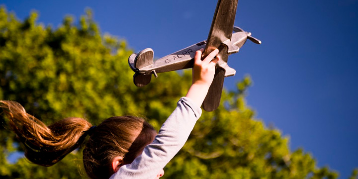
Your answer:
[[[9,127],[25,147],[25,157],[41,166],[52,166],[78,148],[92,126],[87,120],[64,118],[49,126],[26,113],[17,102],[0,100]]]

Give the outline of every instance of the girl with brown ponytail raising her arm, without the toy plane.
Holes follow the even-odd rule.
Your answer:
[[[10,129],[24,144],[25,157],[35,164],[56,164],[89,135],[83,151],[89,178],[159,179],[200,117],[200,106],[213,81],[219,50],[201,61],[202,51],[197,51],[194,57],[190,89],[179,99],[158,134],[144,119],[134,116],[110,117],[98,126],[70,117],[46,126],[17,102],[0,100],[0,107],[9,119]]]

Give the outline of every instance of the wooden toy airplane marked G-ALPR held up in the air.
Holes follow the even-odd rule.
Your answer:
[[[250,32],[234,27],[237,3],[238,0],[218,0],[207,40],[167,55],[155,62],[153,62],[154,52],[151,48],[146,48],[138,54],[132,54],[128,63],[135,72],[133,76],[134,84],[137,87],[144,87],[151,81],[152,74],[157,78],[158,73],[192,68],[193,58],[197,50],[204,48],[202,53],[202,59],[204,59],[217,48],[220,51],[217,56],[221,58],[216,65],[213,83],[202,104],[206,111],[215,110],[220,104],[224,77],[234,76],[236,73],[234,69],[227,65],[228,56],[237,53],[247,39],[256,44],[261,44],[261,41],[252,37]]]

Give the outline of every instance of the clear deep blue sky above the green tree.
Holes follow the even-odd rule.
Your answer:
[[[216,0],[0,0],[19,19],[31,9],[58,27],[86,7],[101,32],[136,52],[162,57],[207,38]],[[292,150],[313,154],[347,179],[358,167],[358,0],[239,0],[235,25],[263,44],[247,42],[228,64],[250,74],[248,104],[257,118],[290,136]],[[160,76],[159,76],[160,78]]]

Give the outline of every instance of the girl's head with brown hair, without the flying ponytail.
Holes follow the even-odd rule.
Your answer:
[[[120,166],[130,164],[156,135],[144,119],[134,116],[111,117],[99,124],[90,135],[83,151],[84,165],[90,178],[108,179],[116,172],[113,160]]]

